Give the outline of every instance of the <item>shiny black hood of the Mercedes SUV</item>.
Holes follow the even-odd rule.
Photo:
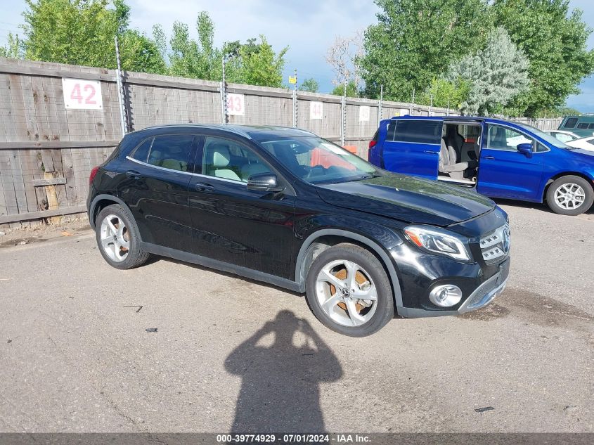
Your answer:
[[[474,191],[401,174],[318,186],[328,204],[415,224],[449,226],[495,208]]]

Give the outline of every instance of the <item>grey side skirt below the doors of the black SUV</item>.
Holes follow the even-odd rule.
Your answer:
[[[287,278],[281,278],[280,276],[274,276],[270,275],[269,273],[247,269],[247,267],[236,266],[235,264],[221,262],[217,259],[202,257],[201,255],[183,252],[181,250],[172,249],[170,247],[163,247],[151,243],[142,243],[142,248],[146,252],[155,255],[161,255],[162,257],[179,259],[179,261],[198,264],[200,266],[205,266],[209,269],[215,269],[217,271],[235,273],[235,275],[238,276],[243,276],[245,278],[250,278],[252,280],[262,281],[263,283],[269,283],[271,285],[278,286],[279,288],[292,290],[293,292],[305,292],[305,285],[299,285],[299,283],[296,283],[295,281],[288,280]]]

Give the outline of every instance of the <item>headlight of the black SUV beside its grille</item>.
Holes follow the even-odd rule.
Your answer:
[[[454,233],[425,226],[408,226],[404,233],[415,245],[430,252],[447,255],[460,261],[469,261],[466,244]]]

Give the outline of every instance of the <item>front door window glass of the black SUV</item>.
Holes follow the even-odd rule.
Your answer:
[[[229,139],[207,136],[202,155],[202,174],[247,182],[252,174],[272,173],[250,148]]]

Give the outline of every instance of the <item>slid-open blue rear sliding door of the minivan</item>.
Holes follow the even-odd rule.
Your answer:
[[[437,179],[443,120],[399,119],[390,122],[383,147],[390,172]],[[393,139],[391,139],[391,136]]]

